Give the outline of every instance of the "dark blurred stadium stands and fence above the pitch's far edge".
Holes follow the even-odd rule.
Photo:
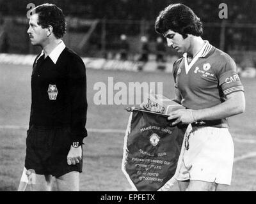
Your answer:
[[[163,54],[164,60],[172,61],[173,56],[176,55],[174,50],[166,49],[165,42],[163,42],[164,45],[157,43],[157,38],[161,36],[154,31],[154,20],[166,5],[181,2],[195,10],[204,22],[204,38],[232,55],[241,71],[255,67],[256,17],[252,8],[255,8],[256,2],[253,0],[55,0],[47,2],[58,4],[62,8],[67,17],[65,43],[84,57],[120,59],[122,58],[120,53],[127,52],[129,61],[140,60],[143,53],[148,54],[148,61],[156,60],[157,54]],[[29,3],[38,5],[45,1],[0,1],[1,52],[37,54],[40,50],[30,44],[26,33]],[[220,3],[226,3],[228,6],[227,19],[219,18]],[[126,43],[121,40],[122,35],[126,37]],[[143,46],[141,36],[147,39],[148,48]],[[151,69],[154,69],[152,66],[156,65],[151,65]],[[159,68],[162,67],[159,66]],[[255,73],[252,71],[251,75],[254,76]]]

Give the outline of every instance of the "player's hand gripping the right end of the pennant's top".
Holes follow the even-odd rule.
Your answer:
[[[174,120],[172,122],[172,126],[177,125],[179,122],[182,122],[183,124],[189,124],[189,123],[195,122],[191,109],[175,110],[172,113],[170,113],[168,120]]]

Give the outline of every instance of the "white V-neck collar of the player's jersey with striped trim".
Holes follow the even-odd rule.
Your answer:
[[[199,50],[198,54],[196,54],[195,57],[193,57],[192,61],[189,64],[188,64],[188,54],[187,53],[183,54],[184,63],[185,63],[185,70],[186,70],[187,75],[188,75],[188,72],[191,69],[191,67],[198,60],[198,58],[205,57],[205,55],[207,55],[209,53],[211,48],[212,48],[212,45],[209,43],[209,41],[205,40],[204,46]]]

